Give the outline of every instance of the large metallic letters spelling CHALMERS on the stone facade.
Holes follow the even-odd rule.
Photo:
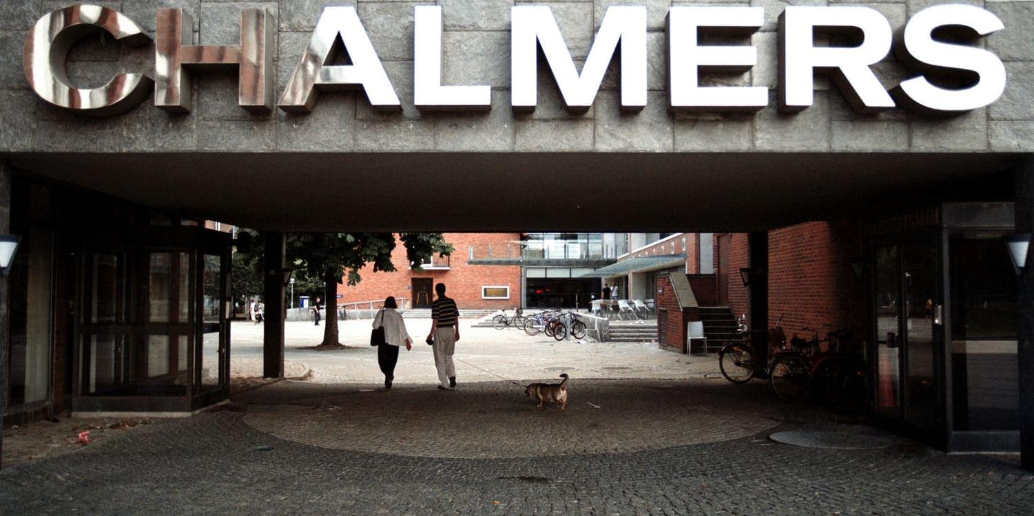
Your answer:
[[[376,50],[354,7],[326,7],[286,87],[276,98],[273,86],[273,14],[241,9],[240,44],[193,44],[190,15],[182,9],[156,12],[154,79],[142,73],[118,73],[99,88],[69,84],[65,58],[72,44],[98,30],[127,44],[150,37],[124,14],[97,5],[73,5],[36,22],[25,41],[25,75],[48,102],[79,112],[108,116],[142,102],[154,90],[154,103],[174,112],[190,110],[191,72],[215,66],[237,67],[239,104],[269,112],[274,105],[308,112],[322,90],[361,88],[378,109],[401,103]],[[442,7],[414,7],[414,104],[425,110],[489,109],[490,88],[443,85]],[[758,110],[768,103],[765,87],[700,85],[701,72],[743,72],[757,64],[750,44],[701,44],[708,33],[749,36],[762,26],[762,7],[674,6],[667,13],[667,91],[672,111]],[[578,70],[564,35],[547,6],[517,5],[511,10],[511,103],[515,110],[538,102],[539,50],[545,57],[567,107],[588,109],[615,54],[619,55],[620,104],[646,105],[646,7],[607,9],[596,39]],[[1001,20],[970,5],[935,5],[916,12],[893,34],[887,19],[863,6],[788,6],[779,17],[779,108],[798,111],[812,105],[817,71],[828,72],[851,106],[873,112],[901,105],[926,114],[951,115],[991,104],[1005,89],[1005,67],[978,39],[1003,29]],[[845,45],[821,45],[822,31]],[[340,40],[348,64],[335,64]],[[891,52],[910,78],[887,91],[872,65]],[[459,59],[462,59],[459,57]],[[949,85],[949,86],[945,86]]]

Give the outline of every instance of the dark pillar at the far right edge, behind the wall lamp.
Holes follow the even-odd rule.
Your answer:
[[[1016,169],[1016,232],[1034,233],[1034,157]],[[1016,311],[1020,323],[1016,359],[1020,372],[1020,461],[1034,472],[1034,261],[1016,279]]]

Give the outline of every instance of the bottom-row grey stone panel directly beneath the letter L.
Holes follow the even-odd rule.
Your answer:
[[[437,120],[435,147],[438,151],[510,151],[514,141],[514,115],[510,94],[492,93],[488,112],[455,114]]]

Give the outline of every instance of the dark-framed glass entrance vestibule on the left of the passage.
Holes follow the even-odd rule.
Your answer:
[[[226,259],[218,246],[86,251],[73,410],[189,412],[225,398]]]

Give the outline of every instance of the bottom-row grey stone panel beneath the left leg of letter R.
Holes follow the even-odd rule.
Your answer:
[[[754,147],[758,151],[828,151],[827,94],[816,93],[815,104],[795,115],[777,111],[774,94],[770,94],[768,106],[754,120]]]

